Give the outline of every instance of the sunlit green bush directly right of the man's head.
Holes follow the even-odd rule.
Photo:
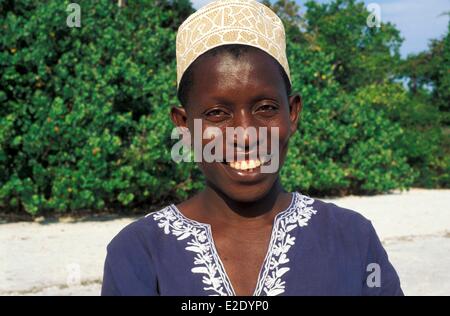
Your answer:
[[[332,56],[294,43],[288,51],[304,110],[283,170],[286,187],[342,195],[411,186],[417,173],[397,148],[401,126],[374,100],[341,93]]]

